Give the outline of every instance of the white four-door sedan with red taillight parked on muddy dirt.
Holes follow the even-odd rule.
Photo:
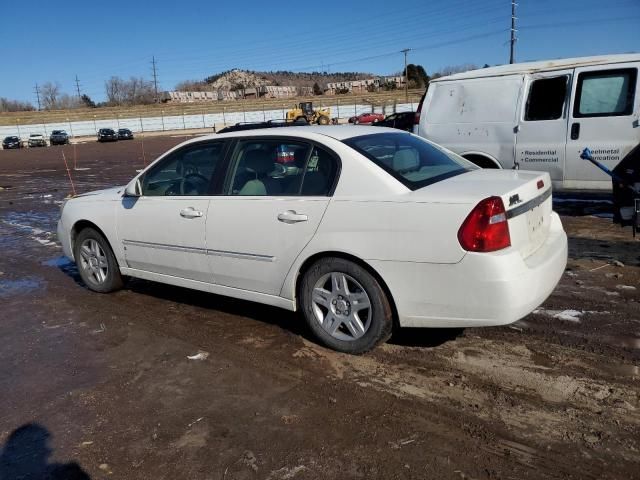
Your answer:
[[[515,322],[567,259],[547,173],[362,126],[189,140],[125,187],[68,200],[58,236],[91,290],[127,276],[299,310],[349,353],[395,327]]]

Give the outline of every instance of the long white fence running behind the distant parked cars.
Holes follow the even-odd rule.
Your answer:
[[[389,115],[395,112],[413,111],[416,103],[393,103],[384,102],[381,105],[372,105],[367,103],[340,104],[338,102],[330,105],[332,118],[346,119],[361,113],[375,112]],[[326,107],[325,107],[326,108]],[[21,125],[16,121],[15,125],[0,126],[0,137],[18,135],[26,140],[31,134],[42,134],[49,136],[52,130],[66,130],[71,137],[95,136],[101,128],[128,128],[134,133],[144,132],[161,132],[175,130],[196,130],[196,129],[219,129],[226,125],[235,125],[239,122],[262,122],[266,120],[279,120],[286,118],[288,106],[283,105],[282,108],[261,109],[261,110],[237,110],[207,113],[205,107],[201,113],[193,113],[193,109],[189,114],[182,115],[164,115],[160,116],[138,116],[123,118],[120,115],[110,119],[97,119],[94,116],[90,120],[65,119],[64,121],[56,121],[50,123]]]

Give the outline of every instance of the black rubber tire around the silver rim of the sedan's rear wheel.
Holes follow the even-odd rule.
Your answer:
[[[333,273],[346,274],[351,277],[351,280],[355,280],[360,284],[360,287],[368,297],[370,312],[367,313],[370,314],[370,321],[368,320],[368,327],[359,338],[351,338],[349,340],[336,338],[322,327],[320,320],[316,317],[317,304],[314,304],[312,300],[313,290],[318,282],[323,282],[327,275]],[[333,350],[358,355],[386,342],[391,337],[393,311],[390,301],[378,280],[365,268],[354,262],[334,257],[318,260],[304,273],[299,293],[300,307],[309,329],[320,343]],[[327,303],[330,302],[331,300]],[[329,308],[335,307],[330,305]],[[324,312],[324,307],[321,311]],[[334,317],[337,318],[335,315]],[[349,329],[346,325],[340,325],[338,330],[340,329],[349,334]],[[340,333],[338,332],[338,334]],[[345,336],[344,333],[340,335]]]

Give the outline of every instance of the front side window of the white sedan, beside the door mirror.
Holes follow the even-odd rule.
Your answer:
[[[210,195],[222,164],[225,142],[183,147],[154,165],[142,178],[142,194],[149,197]]]

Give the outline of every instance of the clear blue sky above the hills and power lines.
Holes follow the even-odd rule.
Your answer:
[[[74,78],[95,100],[112,75],[160,87],[230,68],[366,71],[402,69],[399,51],[427,72],[508,62],[510,0],[323,0],[274,2],[31,1],[29,21],[4,21],[0,97],[35,103],[36,82]],[[516,60],[640,51],[640,0],[518,0]],[[4,13],[26,19],[23,3]],[[4,17],[5,20],[8,17]]]

